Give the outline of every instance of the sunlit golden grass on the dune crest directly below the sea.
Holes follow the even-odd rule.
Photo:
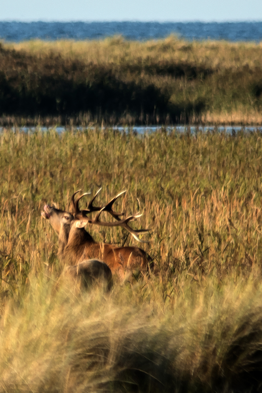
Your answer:
[[[253,68],[261,60],[262,44],[255,42],[226,42],[226,41],[185,41],[170,35],[163,40],[148,40],[145,42],[128,41],[121,36],[104,40],[30,40],[19,43],[5,43],[7,48],[24,50],[27,53],[46,54],[59,53],[86,62],[114,62],[119,64],[123,58],[136,63],[137,59],[174,62],[195,62],[211,68],[235,69],[248,65]]]

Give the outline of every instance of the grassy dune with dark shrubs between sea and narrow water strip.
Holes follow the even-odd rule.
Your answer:
[[[262,123],[262,46],[104,40],[0,47],[0,124]]]

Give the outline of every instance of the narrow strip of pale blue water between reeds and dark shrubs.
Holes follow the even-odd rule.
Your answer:
[[[177,132],[178,134],[189,133],[191,135],[196,135],[198,132],[225,132],[226,134],[235,136],[238,132],[250,133],[250,132],[260,132],[262,134],[262,127],[241,127],[241,126],[229,126],[229,125],[221,125],[221,126],[187,126],[187,125],[177,125],[176,127],[167,126],[167,127],[159,127],[159,126],[133,126],[133,127],[108,127],[109,129],[118,130],[120,132],[133,132],[137,135],[144,134],[152,134],[156,131],[160,132]],[[2,133],[6,129],[6,127],[0,127],[0,133]],[[58,134],[62,134],[66,130],[83,131],[86,129],[95,129],[95,127],[12,127],[13,132],[25,132],[32,134],[36,130],[40,130],[42,132],[47,132],[49,130],[55,130]]]

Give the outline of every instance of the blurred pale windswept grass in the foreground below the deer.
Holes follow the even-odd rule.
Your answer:
[[[0,321],[1,392],[260,391],[261,283],[157,277],[76,298],[43,277]]]

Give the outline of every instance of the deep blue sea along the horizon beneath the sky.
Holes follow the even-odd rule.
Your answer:
[[[262,41],[262,22],[0,22],[0,39],[160,39],[171,33],[187,40]]]

